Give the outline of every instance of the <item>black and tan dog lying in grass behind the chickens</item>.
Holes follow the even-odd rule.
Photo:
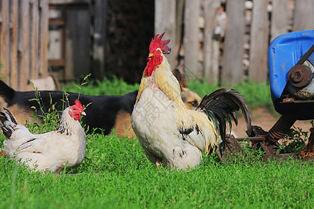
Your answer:
[[[179,77],[178,77],[179,79]],[[188,109],[195,109],[200,104],[201,98],[186,86],[184,79],[179,79],[181,84],[181,97]],[[79,98],[77,93],[67,92],[67,100],[70,104]],[[32,100],[36,98],[36,91],[15,91],[10,86],[0,80],[0,96],[7,103],[6,107],[10,109],[19,124],[25,124],[25,121],[32,123],[35,118],[30,117],[32,114],[43,115],[43,111],[47,112],[51,104],[61,111],[65,108],[64,100],[66,95],[63,91],[38,91],[40,100],[40,109],[38,101]],[[82,124],[89,126],[89,132],[98,128],[96,132],[103,130],[104,134],[110,134],[112,128],[114,132],[122,137],[135,136],[130,124],[130,115],[133,111],[137,91],[133,91],[126,95],[80,95],[80,102],[87,105],[90,104],[86,112],[87,116],[82,118]],[[62,101],[63,100],[63,101]],[[36,109],[33,109],[35,107]],[[38,117],[40,118],[40,117]]]

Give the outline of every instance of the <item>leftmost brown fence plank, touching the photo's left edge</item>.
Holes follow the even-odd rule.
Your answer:
[[[1,47],[1,77],[5,77],[7,84],[10,84],[10,75],[9,75],[9,39],[10,30],[9,30],[9,0],[2,0],[1,2],[1,37],[0,37],[0,47]]]

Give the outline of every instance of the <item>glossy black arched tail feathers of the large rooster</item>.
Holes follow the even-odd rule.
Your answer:
[[[231,130],[231,118],[237,125],[238,119],[235,111],[241,109],[246,121],[248,134],[251,134],[251,114],[250,111],[248,111],[246,100],[239,92],[232,88],[221,88],[204,96],[197,109],[204,111],[209,117],[209,120],[213,121],[222,139],[225,139],[226,120]]]

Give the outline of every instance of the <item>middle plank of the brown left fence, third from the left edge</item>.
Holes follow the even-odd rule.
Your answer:
[[[20,20],[19,28],[21,29],[18,42],[18,72],[20,74],[20,90],[26,88],[29,79],[29,1],[20,1],[19,5]]]

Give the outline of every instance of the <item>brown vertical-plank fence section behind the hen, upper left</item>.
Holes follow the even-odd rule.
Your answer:
[[[1,79],[17,90],[47,70],[47,0],[0,0]]]

